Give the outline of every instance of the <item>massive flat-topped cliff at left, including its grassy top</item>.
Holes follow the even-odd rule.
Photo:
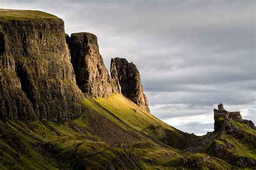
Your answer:
[[[40,11],[1,10],[0,119],[66,121],[81,112],[64,22]]]

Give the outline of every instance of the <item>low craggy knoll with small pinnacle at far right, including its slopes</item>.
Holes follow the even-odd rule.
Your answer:
[[[254,123],[242,119],[239,111],[230,112],[223,104],[214,109],[214,131],[199,137],[186,149],[226,160],[245,168],[256,166],[256,130]]]

